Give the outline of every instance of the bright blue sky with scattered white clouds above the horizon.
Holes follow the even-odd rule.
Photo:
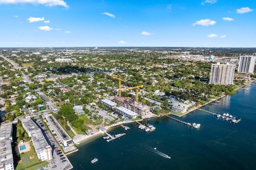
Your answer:
[[[0,47],[256,47],[255,0],[0,0]]]

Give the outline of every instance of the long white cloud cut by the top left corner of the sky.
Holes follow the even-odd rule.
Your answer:
[[[0,4],[43,4],[45,6],[64,6],[68,8],[68,5],[64,0],[0,0]]]

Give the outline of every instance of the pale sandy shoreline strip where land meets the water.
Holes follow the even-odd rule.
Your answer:
[[[250,81],[250,83],[251,82],[253,82],[254,80],[252,80],[252,81]],[[234,91],[237,91],[238,89],[240,89],[240,88],[242,88],[244,85],[241,85],[240,87],[238,87],[236,90],[234,90]],[[209,104],[209,103],[211,103],[212,101],[215,101],[215,100],[218,100],[218,99],[220,99],[220,98],[222,98],[222,97],[225,97],[226,95],[225,94],[223,94],[222,96],[220,96],[220,97],[217,97],[216,99],[212,99],[211,101],[209,101],[209,102],[207,102],[207,103],[205,103],[204,105],[200,105],[200,106],[198,106],[198,107],[194,107],[193,109],[191,109],[190,111],[188,111],[187,113],[184,113],[184,114],[182,114],[182,115],[180,115],[180,116],[178,116],[178,115],[175,115],[175,116],[178,116],[178,117],[182,117],[182,116],[184,116],[184,115],[186,115],[186,114],[188,114],[188,113],[190,113],[190,112],[192,112],[192,111],[195,111],[196,109],[199,109],[200,107],[203,107],[203,106],[205,106],[205,105],[207,105],[207,104]],[[171,115],[174,115],[174,114],[172,114],[172,113],[170,113]],[[143,121],[143,120],[145,120],[145,119],[150,119],[150,118],[155,118],[155,117],[160,117],[161,115],[153,115],[153,116],[151,116],[151,117],[144,117],[144,118],[142,118],[142,119],[140,119],[140,120],[136,120],[136,121]],[[132,123],[132,122],[135,122],[135,121],[122,121],[122,122],[118,122],[118,123],[115,123],[115,124],[113,124],[113,125],[110,125],[110,126],[106,126],[106,127],[104,127],[104,128],[106,128],[106,130],[111,130],[111,128],[113,128],[113,127],[116,127],[116,126],[119,126],[119,125],[122,125],[122,124],[125,124],[125,123]],[[96,138],[96,137],[98,137],[98,136],[102,136],[102,135],[100,135],[100,134],[102,134],[101,132],[96,132],[96,133],[94,133],[94,134],[91,134],[91,135],[83,135],[83,134],[79,134],[78,136],[77,136],[77,138],[78,139],[74,139],[73,141],[74,141],[74,144],[75,145],[80,145],[80,144],[85,144],[86,142],[89,142],[90,140],[93,140],[94,138]]]

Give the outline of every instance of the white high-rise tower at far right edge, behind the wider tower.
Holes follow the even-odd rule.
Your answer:
[[[256,56],[244,55],[240,56],[238,63],[238,73],[253,73]]]

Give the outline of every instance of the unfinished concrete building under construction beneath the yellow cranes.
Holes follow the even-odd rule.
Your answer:
[[[112,101],[117,103],[119,106],[134,111],[141,116],[147,115],[150,112],[149,106],[135,102],[134,98],[132,97],[115,97],[112,99]]]

